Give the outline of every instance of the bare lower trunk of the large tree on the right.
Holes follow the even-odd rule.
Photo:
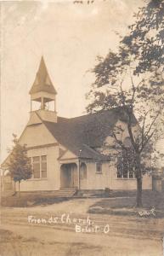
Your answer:
[[[140,166],[140,154],[136,154],[136,177],[137,177],[137,197],[136,207],[143,207],[142,203],[142,171]]]

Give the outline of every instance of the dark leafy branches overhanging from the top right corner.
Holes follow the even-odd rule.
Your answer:
[[[108,3],[108,0],[104,1]],[[96,2],[99,1],[81,0],[73,3],[82,5],[82,3]],[[143,0],[143,2],[144,7],[139,8],[133,15],[135,22],[128,26],[127,35],[120,36],[120,58],[115,61],[117,66],[120,66],[120,70],[129,61],[135,62],[134,75],[147,73],[152,84],[160,85],[164,83],[164,0]],[[110,55],[106,56],[106,61],[108,57],[110,58]]]

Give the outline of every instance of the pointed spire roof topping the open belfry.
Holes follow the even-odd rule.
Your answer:
[[[37,71],[36,79],[31,87],[30,94],[37,93],[39,91],[46,91],[48,93],[57,94],[54,89],[54,85],[48,75],[48,70],[44,62],[43,56]]]

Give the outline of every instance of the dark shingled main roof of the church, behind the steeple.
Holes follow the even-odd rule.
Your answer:
[[[109,160],[108,156],[99,154],[96,148],[102,146],[105,137],[109,136],[118,119],[126,122],[122,108],[112,108],[72,119],[59,117],[57,123],[43,123],[60,144],[78,157]]]

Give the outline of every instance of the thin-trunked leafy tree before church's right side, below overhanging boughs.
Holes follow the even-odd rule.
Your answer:
[[[109,58],[110,55],[110,58]],[[128,81],[115,79],[112,69],[116,70],[117,58],[120,56],[110,53],[108,61],[99,58],[99,63],[93,68],[96,80],[88,94],[91,103],[88,105],[88,113],[100,111],[102,109],[118,108],[123,110],[125,116],[125,127],[116,125],[115,129],[110,132],[110,136],[115,139],[116,144],[126,152],[129,152],[133,158],[133,172],[137,178],[137,199],[136,206],[142,207],[142,177],[145,172],[150,172],[150,166],[145,168],[145,154],[147,159],[151,158],[153,149],[153,139],[160,137],[162,132],[162,110],[164,107],[164,88],[157,84],[152,86],[148,80],[141,79],[134,83],[131,70],[129,68],[130,83]],[[106,84],[104,80],[105,67],[108,67],[108,75],[111,78]],[[119,69],[120,67],[118,67]],[[112,77],[114,76],[114,82]],[[121,77],[121,76],[120,76]],[[134,118],[136,113],[138,119]],[[138,129],[136,130],[136,126]],[[128,131],[131,147],[124,145],[122,134]],[[127,154],[128,155],[128,154]]]

